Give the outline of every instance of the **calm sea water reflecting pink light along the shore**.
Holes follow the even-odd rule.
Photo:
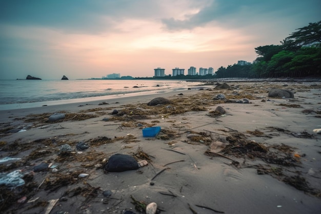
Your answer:
[[[0,80],[0,110],[164,93],[199,84],[179,80]]]

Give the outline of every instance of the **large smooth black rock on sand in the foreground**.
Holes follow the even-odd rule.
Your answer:
[[[139,168],[137,161],[128,154],[112,155],[104,169],[108,172],[122,172],[127,170],[135,170]]]

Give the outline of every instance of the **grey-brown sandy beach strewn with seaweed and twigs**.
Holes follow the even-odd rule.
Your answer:
[[[0,111],[0,158],[21,158],[0,163],[1,172],[29,175],[23,186],[1,187],[0,209],[45,213],[48,202],[59,199],[50,213],[144,213],[135,205],[151,202],[159,213],[319,213],[321,144],[312,130],[321,126],[321,84],[228,84],[231,89],[213,84],[205,90]],[[272,87],[295,92],[294,99],[268,98]],[[219,93],[229,102],[213,100]],[[172,103],[147,106],[156,97]],[[231,102],[243,99],[250,103]],[[102,102],[108,104],[98,105]],[[217,106],[226,113],[215,112]],[[114,109],[123,113],[112,115]],[[48,122],[55,112],[66,118]],[[157,137],[143,137],[142,129],[150,126],[162,128]],[[79,153],[81,141],[90,147]],[[215,142],[227,146],[215,149]],[[73,151],[63,155],[64,144]],[[105,172],[116,153],[148,165]],[[57,171],[33,172],[40,163],[57,165]],[[80,173],[89,176],[79,178]],[[109,197],[103,195],[107,190]]]

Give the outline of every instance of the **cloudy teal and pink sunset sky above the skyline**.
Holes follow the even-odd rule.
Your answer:
[[[321,20],[320,0],[0,0],[0,79],[153,76],[253,62]]]

